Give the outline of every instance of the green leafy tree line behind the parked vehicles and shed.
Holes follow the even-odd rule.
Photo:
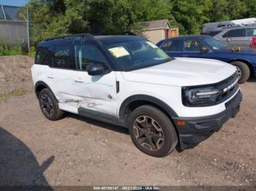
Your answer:
[[[61,34],[140,31],[138,23],[160,19],[178,26],[180,34],[200,34],[203,23],[256,17],[256,0],[31,0],[26,7],[34,42]]]

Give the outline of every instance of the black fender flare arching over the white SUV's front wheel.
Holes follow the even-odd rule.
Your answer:
[[[129,104],[131,104],[134,101],[148,101],[165,110],[165,112],[167,112],[167,114],[169,114],[170,117],[178,117],[178,114],[176,114],[176,112],[170,106],[168,106],[164,101],[158,98],[155,98],[151,95],[138,94],[138,95],[129,96],[122,102],[119,109],[119,113],[118,113],[120,118],[124,118],[125,109],[127,108],[127,106],[129,106]]]

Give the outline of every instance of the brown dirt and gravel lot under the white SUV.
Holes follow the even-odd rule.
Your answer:
[[[256,185],[256,79],[241,88],[235,119],[194,149],[164,158],[144,155],[124,128],[74,114],[51,122],[34,93],[5,98],[0,185]]]

